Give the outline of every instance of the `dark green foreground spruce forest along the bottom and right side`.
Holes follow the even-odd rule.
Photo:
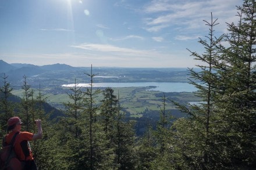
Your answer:
[[[40,169],[255,169],[256,3],[245,0],[237,11],[237,24],[227,24],[228,33],[220,37],[214,35],[217,20],[205,21],[209,33],[199,41],[205,52],[189,50],[201,61],[200,71],[190,69],[190,81],[202,102],[172,101],[187,113],[186,118],[173,121],[163,95],[157,128],[148,124],[143,137],[137,138],[134,121],[125,121],[113,90],[93,89],[91,70],[85,74],[91,86],[70,88],[65,116],[49,121],[40,104],[45,100],[41,90],[35,96],[26,76],[22,101],[17,106],[10,103],[12,88],[6,76],[1,88],[1,136],[6,120],[15,113],[26,131],[34,131],[33,119],[41,118],[44,139],[31,143]]]

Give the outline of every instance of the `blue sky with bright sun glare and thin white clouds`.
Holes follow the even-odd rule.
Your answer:
[[[191,51],[241,0],[1,0],[0,59],[90,67],[195,67]]]

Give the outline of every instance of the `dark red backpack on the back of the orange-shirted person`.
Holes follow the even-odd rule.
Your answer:
[[[3,148],[0,151],[0,169],[6,169],[6,170],[20,170],[22,169],[22,163],[17,158],[16,153],[13,149],[13,143],[15,142],[16,136],[19,134],[19,132],[15,133],[13,136],[10,144],[5,145],[5,138],[3,139]]]

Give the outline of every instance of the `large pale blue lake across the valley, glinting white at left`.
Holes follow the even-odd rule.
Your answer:
[[[63,87],[74,87],[74,84],[65,84]],[[77,86],[89,87],[90,84],[77,84]],[[160,92],[195,92],[197,88],[189,83],[183,82],[105,82],[105,83],[94,83],[93,87],[104,88],[125,88],[125,87],[147,87],[154,86],[149,91],[160,91]]]

